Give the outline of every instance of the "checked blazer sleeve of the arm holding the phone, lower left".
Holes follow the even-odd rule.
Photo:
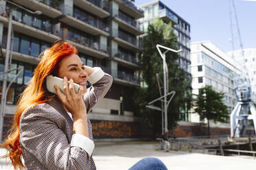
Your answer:
[[[92,156],[70,146],[61,125],[65,123],[50,108],[29,108],[21,115],[21,145],[47,169],[96,169]]]

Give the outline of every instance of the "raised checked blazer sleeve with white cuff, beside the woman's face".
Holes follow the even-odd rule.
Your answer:
[[[87,112],[92,110],[92,107],[106,95],[107,91],[111,87],[113,77],[107,73],[104,73],[100,67],[94,67],[94,73],[89,75],[88,81],[92,84],[87,89],[87,93],[83,95]]]

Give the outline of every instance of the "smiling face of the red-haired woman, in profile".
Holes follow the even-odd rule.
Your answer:
[[[86,93],[86,82],[88,79],[88,73],[85,71],[85,65],[81,59],[74,53],[66,56],[59,63],[58,77],[67,77],[67,80],[71,78],[74,83],[83,86],[83,92]]]

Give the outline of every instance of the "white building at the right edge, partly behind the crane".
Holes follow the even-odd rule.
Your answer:
[[[242,57],[242,52],[244,52],[244,58]],[[252,89],[251,98],[256,102],[256,48],[230,51],[228,55],[233,56],[233,59],[238,63],[245,62],[243,70],[248,73]]]

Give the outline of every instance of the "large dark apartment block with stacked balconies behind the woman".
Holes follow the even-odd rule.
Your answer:
[[[136,36],[143,34],[136,20],[143,17],[143,11],[134,1],[12,0],[0,1],[0,5],[3,56],[6,55],[7,16],[12,10],[14,38],[11,69],[23,69],[8,90],[5,131],[10,127],[16,110],[17,96],[30,81],[39,63],[39,53],[54,41],[63,39],[76,46],[84,64],[100,66],[114,77],[105,98],[93,108],[93,114],[89,114],[94,137],[136,137],[138,121],[134,117],[132,94],[140,84],[137,60],[140,48]],[[28,10],[41,11],[42,14],[31,14]],[[3,68],[2,58],[1,72]],[[8,81],[16,74],[17,71],[8,73]]]

